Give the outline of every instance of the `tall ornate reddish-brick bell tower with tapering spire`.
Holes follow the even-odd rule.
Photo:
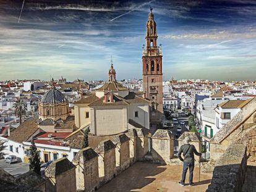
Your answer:
[[[163,72],[161,44],[157,45],[156,22],[152,8],[148,14],[146,45],[143,45],[143,94],[150,100],[150,122],[161,122],[163,116]]]

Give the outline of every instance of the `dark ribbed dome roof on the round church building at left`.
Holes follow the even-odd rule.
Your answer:
[[[62,103],[68,102],[65,98],[64,94],[61,91],[56,90],[56,88],[52,88],[51,90],[47,91],[43,98],[41,99],[42,103]]]

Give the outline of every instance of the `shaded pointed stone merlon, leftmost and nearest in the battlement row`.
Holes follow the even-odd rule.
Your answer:
[[[75,192],[77,191],[75,180],[75,165],[66,157],[62,157],[52,162],[45,170],[45,176],[50,182],[46,186],[46,191],[54,192]]]

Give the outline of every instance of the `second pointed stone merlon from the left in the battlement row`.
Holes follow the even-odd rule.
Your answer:
[[[81,149],[74,157],[73,164],[78,191],[93,191],[98,188],[98,154],[92,148]]]

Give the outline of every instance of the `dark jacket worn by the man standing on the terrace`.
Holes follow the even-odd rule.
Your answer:
[[[181,157],[181,153],[183,152],[184,159]],[[177,153],[177,157],[181,161],[187,162],[187,163],[194,163],[194,153],[197,156],[200,156],[201,153],[197,152],[197,149],[195,149],[195,146],[193,144],[183,144],[181,148],[179,148],[179,152]]]

